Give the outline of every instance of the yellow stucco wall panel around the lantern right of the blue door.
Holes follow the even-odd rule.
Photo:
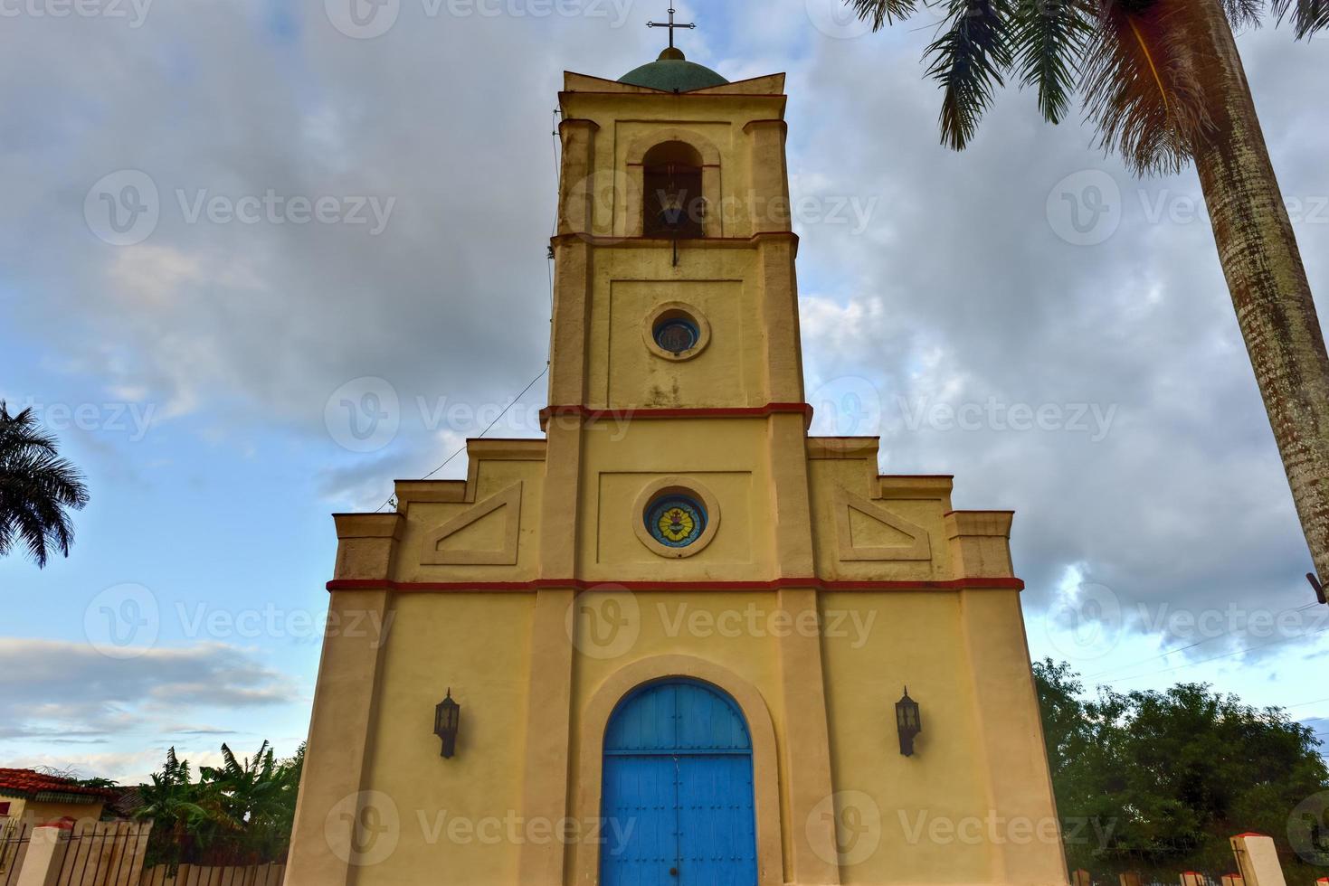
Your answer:
[[[821,608],[872,626],[867,643],[823,644],[836,790],[868,794],[880,821],[878,847],[847,866],[843,882],[999,882],[987,847],[933,842],[926,825],[918,836],[920,818],[957,821],[986,809],[957,595],[828,592]],[[913,757],[901,756],[894,735],[893,703],[905,684],[924,704]]]

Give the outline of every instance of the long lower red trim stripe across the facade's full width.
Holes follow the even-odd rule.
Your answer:
[[[538,591],[540,588],[625,590],[625,591],[777,591],[784,587],[813,587],[823,591],[1022,591],[1018,578],[957,578],[949,580],[836,580],[821,578],[777,578],[768,582],[587,582],[579,578],[537,578],[526,582],[393,582],[375,578],[335,578],[328,591],[397,591],[416,594]]]

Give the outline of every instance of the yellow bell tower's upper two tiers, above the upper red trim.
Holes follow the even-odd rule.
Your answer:
[[[552,409],[803,402],[783,74],[566,74]],[[698,413],[702,414],[702,413]]]

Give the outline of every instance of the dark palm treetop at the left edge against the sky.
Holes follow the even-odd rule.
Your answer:
[[[82,474],[60,457],[32,408],[11,416],[0,400],[0,557],[27,546],[39,567],[52,547],[69,557],[74,537],[69,510],[88,503]]]

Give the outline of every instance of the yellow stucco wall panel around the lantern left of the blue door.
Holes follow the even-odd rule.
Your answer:
[[[513,761],[525,747],[533,603],[530,594],[393,599],[365,784],[391,797],[400,841],[359,882],[427,882],[417,871],[443,859],[447,882],[517,882],[505,822],[521,808]],[[448,688],[462,705],[455,761],[440,758],[432,735],[433,707]],[[460,760],[466,765],[451,765]]]

